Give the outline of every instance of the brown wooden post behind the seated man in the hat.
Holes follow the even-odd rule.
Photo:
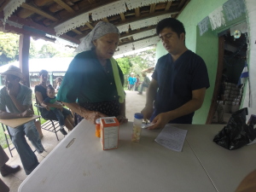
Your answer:
[[[28,66],[29,47],[30,47],[30,36],[20,35],[19,61],[20,61],[20,69],[24,76],[24,79],[20,79],[20,83],[28,87],[30,87],[29,66]]]

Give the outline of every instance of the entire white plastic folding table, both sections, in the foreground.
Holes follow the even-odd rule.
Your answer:
[[[229,151],[212,142],[224,125],[174,126],[188,130],[181,153],[154,142],[160,130],[143,130],[141,142],[131,143],[131,122],[120,127],[119,148],[103,151],[95,126],[83,120],[19,192],[229,192],[255,168],[256,144]]]

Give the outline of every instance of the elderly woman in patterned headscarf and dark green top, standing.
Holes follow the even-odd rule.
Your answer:
[[[119,30],[100,21],[78,47],[83,51],[70,63],[57,99],[84,119],[95,124],[105,116],[125,118],[124,75],[113,59]]]

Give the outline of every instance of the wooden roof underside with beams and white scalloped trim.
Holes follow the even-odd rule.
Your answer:
[[[103,20],[119,28],[119,52],[124,52],[156,44],[154,29],[158,20],[176,18],[188,3],[189,0],[0,0],[0,31],[53,42],[65,39],[75,46]]]

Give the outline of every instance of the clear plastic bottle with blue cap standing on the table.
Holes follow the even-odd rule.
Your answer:
[[[142,133],[143,114],[135,113],[133,121],[133,129],[131,135],[131,142],[139,142]]]

